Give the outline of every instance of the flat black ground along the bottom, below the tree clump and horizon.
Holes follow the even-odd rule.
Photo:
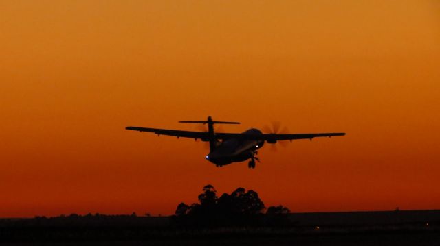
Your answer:
[[[0,245],[440,246],[440,210],[293,213],[285,218],[279,225],[210,228],[182,227],[170,217],[129,215],[0,219]]]

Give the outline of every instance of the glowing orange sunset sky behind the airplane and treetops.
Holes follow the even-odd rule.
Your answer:
[[[0,1],[0,217],[172,214],[205,184],[294,212],[440,208],[439,1]],[[216,168],[190,139],[347,132]]]

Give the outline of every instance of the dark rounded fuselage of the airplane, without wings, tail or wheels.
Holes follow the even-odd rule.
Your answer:
[[[262,132],[256,128],[251,128],[242,134],[262,134]],[[232,162],[243,162],[253,158],[256,151],[263,147],[263,144],[264,140],[230,138],[219,142],[214,150],[208,153],[206,160],[217,166],[231,164]]]

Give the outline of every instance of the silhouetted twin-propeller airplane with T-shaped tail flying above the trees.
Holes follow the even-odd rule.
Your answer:
[[[146,127],[125,127],[126,130],[139,132],[153,132],[154,134],[177,136],[177,138],[194,138],[204,142],[209,142],[210,151],[206,160],[214,163],[217,167],[223,167],[233,162],[243,162],[250,159],[248,167],[255,168],[255,160],[260,162],[256,157],[258,149],[263,147],[265,143],[275,144],[280,140],[296,140],[296,139],[312,139],[316,137],[344,136],[344,132],[333,133],[303,133],[303,134],[263,134],[261,130],[250,128],[242,133],[222,133],[214,132],[214,124],[239,124],[234,121],[213,121],[208,116],[207,121],[179,121],[179,123],[199,123],[208,124],[208,132],[194,132],[181,130],[168,130]]]

